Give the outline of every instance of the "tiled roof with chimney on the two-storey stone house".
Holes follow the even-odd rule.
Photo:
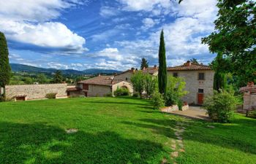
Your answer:
[[[189,70],[211,70],[210,66],[195,64],[191,62],[184,63],[181,66],[168,67],[167,71],[189,71]]]

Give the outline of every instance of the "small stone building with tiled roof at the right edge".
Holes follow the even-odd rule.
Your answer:
[[[241,87],[240,92],[244,93],[244,110],[256,109],[256,85],[249,82],[246,87]]]

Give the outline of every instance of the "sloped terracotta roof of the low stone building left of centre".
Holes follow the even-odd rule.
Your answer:
[[[86,79],[81,82],[78,82],[80,84],[86,84],[86,85],[105,85],[105,86],[112,86],[116,85],[118,82],[122,82],[124,80],[114,79],[113,76],[99,76],[94,77],[91,79]]]

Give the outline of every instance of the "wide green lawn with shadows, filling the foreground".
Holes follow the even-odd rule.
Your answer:
[[[170,158],[173,128],[184,147]],[[216,128],[208,128],[214,125]],[[76,128],[68,134],[66,129]],[[256,163],[256,120],[217,124],[162,114],[135,98],[69,98],[0,104],[0,163]]]

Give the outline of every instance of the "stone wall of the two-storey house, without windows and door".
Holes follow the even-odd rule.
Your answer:
[[[186,82],[185,90],[189,94],[185,95],[183,101],[188,104],[197,104],[198,89],[203,89],[203,97],[214,93],[214,71],[168,71],[167,74],[173,76],[173,73],[178,73],[178,77],[183,77]],[[198,74],[205,73],[205,80],[198,80]]]

